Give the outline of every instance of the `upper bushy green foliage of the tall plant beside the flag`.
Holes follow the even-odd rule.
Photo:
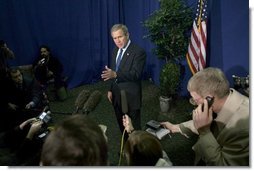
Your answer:
[[[183,0],[159,0],[160,8],[144,21],[150,39],[155,48],[153,52],[166,62],[172,58],[182,58],[187,52],[192,26],[192,10]]]

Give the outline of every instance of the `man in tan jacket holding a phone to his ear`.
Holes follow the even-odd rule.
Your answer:
[[[249,166],[249,98],[229,88],[228,80],[218,68],[197,72],[187,88],[198,105],[192,120],[161,124],[172,133],[199,135],[193,146],[195,165]],[[212,99],[211,107],[207,97]]]

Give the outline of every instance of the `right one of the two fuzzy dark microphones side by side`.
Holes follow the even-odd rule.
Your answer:
[[[99,92],[98,90],[95,90],[88,98],[88,100],[85,102],[84,106],[83,106],[83,114],[89,114],[91,111],[93,111],[95,109],[95,107],[97,106],[97,104],[100,102],[101,100],[101,92]]]

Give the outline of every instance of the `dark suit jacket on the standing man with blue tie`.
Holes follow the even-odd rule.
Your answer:
[[[111,69],[115,70],[118,48],[112,53]],[[130,43],[123,54],[117,78],[112,80],[110,91],[113,93],[114,105],[120,105],[120,90],[125,90],[128,101],[128,109],[141,108],[142,89],[141,78],[146,61],[146,53],[139,46]]]

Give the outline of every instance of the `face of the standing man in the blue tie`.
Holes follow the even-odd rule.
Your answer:
[[[129,34],[125,35],[121,29],[112,32],[111,36],[119,49],[125,47],[129,40]]]

